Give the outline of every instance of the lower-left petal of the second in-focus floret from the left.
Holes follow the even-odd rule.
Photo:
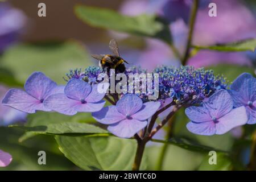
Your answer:
[[[75,115],[75,107],[80,104],[80,101],[72,100],[62,93],[53,94],[44,101],[44,105],[49,109],[66,115]]]

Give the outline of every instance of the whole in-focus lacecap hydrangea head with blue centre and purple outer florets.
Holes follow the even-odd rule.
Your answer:
[[[229,89],[224,77],[204,68],[162,66],[151,73],[139,67],[127,68],[126,77],[158,74],[156,100],[149,99],[154,89],[146,93],[100,93],[97,88],[103,79],[102,73],[105,71],[99,67],[71,70],[64,78],[67,84],[57,85],[43,73],[35,72],[28,77],[24,90],[10,89],[2,104],[26,113],[37,110],[66,115],[92,113],[96,121],[108,125],[110,133],[122,138],[152,138],[181,107],[187,107],[185,114],[191,119],[187,128],[195,134],[223,134],[247,122],[255,123],[256,84],[255,78],[247,73],[238,77]],[[105,75],[111,77],[110,73]],[[155,88],[155,82],[151,84]],[[245,92],[240,93],[241,89]],[[237,98],[237,94],[243,97]],[[112,105],[104,107],[106,101]],[[156,119],[164,111],[168,113],[154,128]]]

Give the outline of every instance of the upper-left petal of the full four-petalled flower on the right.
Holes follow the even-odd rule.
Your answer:
[[[185,114],[193,122],[212,121],[209,111],[205,107],[191,106],[185,109]]]

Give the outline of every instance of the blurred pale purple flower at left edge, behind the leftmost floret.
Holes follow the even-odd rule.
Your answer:
[[[0,85],[0,100],[3,99],[7,91],[8,88]],[[0,126],[10,125],[15,122],[24,122],[26,121],[26,117],[27,113],[0,104]]]

